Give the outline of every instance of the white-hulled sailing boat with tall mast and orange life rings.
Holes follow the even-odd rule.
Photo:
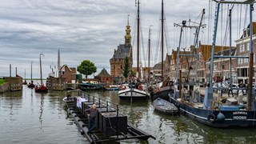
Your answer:
[[[122,89],[118,91],[118,96],[122,100],[130,100],[130,102],[133,102],[133,100],[145,100],[150,97],[150,93],[148,93],[146,90],[143,89],[142,84],[138,84],[139,78],[141,76],[140,70],[139,70],[139,0],[136,2],[138,5],[138,15],[137,15],[137,72],[138,72],[138,79],[136,77],[132,77],[130,80],[130,86],[122,86]],[[128,21],[129,25],[129,21]]]

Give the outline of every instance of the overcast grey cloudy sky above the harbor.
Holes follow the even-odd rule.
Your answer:
[[[151,46],[156,49],[161,1],[141,0],[140,2],[143,45],[148,46],[148,30],[152,25]],[[209,14],[208,0],[168,0],[164,3],[166,31],[169,35],[166,40],[169,44],[165,53],[170,53],[178,46],[180,28],[174,27],[174,23],[188,19],[199,22],[198,17],[203,8],[206,9],[204,23],[208,24],[209,16],[212,18],[214,15]],[[214,5],[215,3],[213,9]],[[134,0],[2,0],[0,76],[9,76],[11,64],[12,75],[15,74],[15,67],[18,67],[18,74],[24,77],[26,70],[26,78],[28,78],[30,62],[33,62],[34,77],[39,78],[39,54],[42,53],[45,55],[42,57],[43,77],[46,78],[50,72],[50,65],[57,65],[58,50],[61,53],[62,65],[77,67],[83,60],[88,59],[97,66],[96,74],[103,68],[110,73],[110,58],[114,54],[114,49],[117,49],[120,43],[124,43],[128,14],[130,14],[130,26],[134,38],[137,14]],[[223,12],[223,15],[225,14],[226,11]],[[234,14],[239,16],[238,13]],[[225,18],[223,16],[222,19]],[[210,22],[212,21],[214,20]],[[247,25],[248,22],[248,19],[243,20],[240,22],[240,27]],[[224,29],[225,23],[222,27]],[[212,42],[212,29],[206,26],[202,30],[200,40],[204,44]],[[190,32],[187,31],[187,35],[189,34]],[[239,34],[234,35],[238,38]],[[186,41],[189,41],[188,39]]]

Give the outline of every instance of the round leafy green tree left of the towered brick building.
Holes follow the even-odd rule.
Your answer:
[[[80,74],[85,74],[86,78],[88,75],[93,74],[97,71],[97,67],[94,66],[94,62],[90,62],[89,60],[84,60],[78,66],[78,72]]]

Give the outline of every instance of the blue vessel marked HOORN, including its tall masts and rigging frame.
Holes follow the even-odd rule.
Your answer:
[[[202,122],[208,126],[213,127],[253,127],[256,126],[256,110],[255,110],[255,95],[252,89],[253,83],[253,47],[252,47],[252,10],[254,6],[253,1],[244,1],[244,2],[227,2],[227,1],[215,1],[217,2],[215,19],[214,19],[214,39],[212,43],[212,52],[210,58],[210,83],[206,87],[205,96],[203,102],[190,102],[189,100],[180,97],[181,90],[172,90],[169,94],[170,102],[174,103],[178,107],[182,114],[187,115],[190,118],[198,122]],[[217,28],[218,28],[218,14],[220,6],[222,4],[241,4],[241,5],[250,5],[250,73],[249,73],[249,86],[248,86],[248,96],[246,99],[246,104],[238,103],[234,104],[231,102],[223,103],[218,102],[218,98],[214,98],[213,94],[213,70],[214,70],[214,58],[224,58],[224,56],[214,55],[214,48],[217,37]],[[232,10],[232,9],[231,9]],[[230,10],[230,25],[231,25],[231,10]],[[230,26],[231,32],[231,26]],[[231,33],[230,33],[230,49],[231,49]],[[225,56],[225,58],[246,58],[244,56]],[[247,57],[248,58],[248,57]],[[180,73],[181,75],[181,73]],[[231,77],[231,76],[230,76]],[[180,76],[181,78],[181,76]],[[230,78],[231,79],[231,78]],[[181,85],[182,83],[179,82]],[[181,87],[181,86],[179,86]],[[218,88],[216,88],[218,89]],[[241,88],[240,88],[241,89]],[[216,100],[217,99],[217,100]],[[216,105],[217,104],[217,105]]]

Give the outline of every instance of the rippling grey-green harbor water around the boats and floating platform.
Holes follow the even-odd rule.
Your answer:
[[[119,104],[128,122],[152,134],[156,140],[126,140],[120,143],[254,143],[256,128],[217,129],[195,122],[186,116],[159,114],[150,100],[123,102],[118,91],[88,91],[92,96]],[[66,91],[35,94],[22,91],[0,94],[0,143],[88,143],[66,112],[62,98]]]

